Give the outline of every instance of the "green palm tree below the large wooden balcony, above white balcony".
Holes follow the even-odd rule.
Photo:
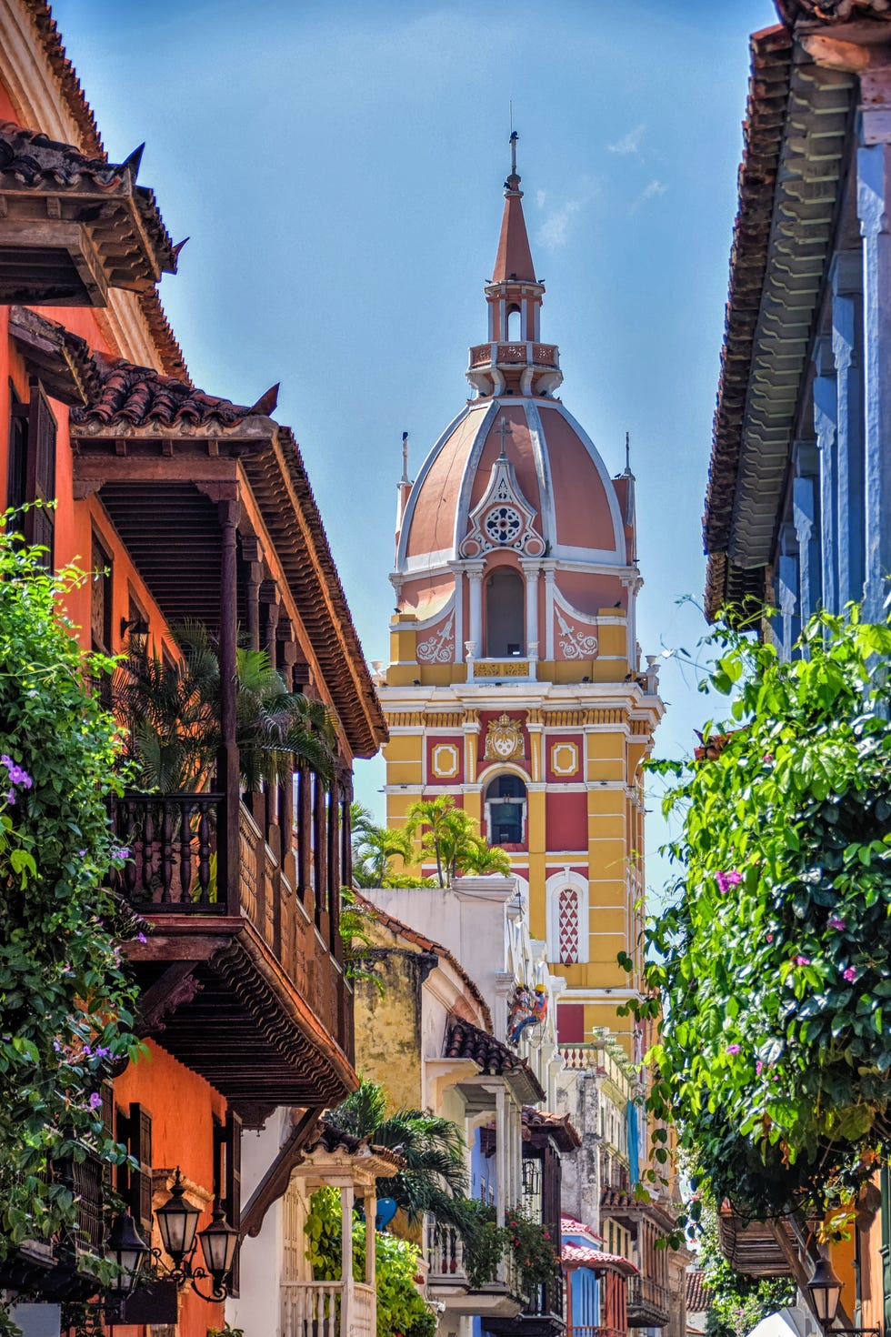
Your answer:
[[[429,1211],[439,1226],[466,1229],[466,1144],[457,1123],[422,1110],[387,1114],[383,1087],[366,1078],[326,1119],[343,1132],[367,1138],[405,1158],[405,1170],[391,1179],[378,1179],[378,1194],[393,1198],[409,1225],[417,1225]]]

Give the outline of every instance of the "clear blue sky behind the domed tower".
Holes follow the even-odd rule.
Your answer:
[[[282,382],[370,659],[387,659],[401,435],[417,468],[485,337],[512,99],[564,402],[610,472],[632,437],[641,647],[695,651],[701,615],[677,600],[703,592],[748,35],[771,0],[53,12],[108,152],[147,142],[140,180],[191,237],[162,297],[195,381],[248,404]],[[695,677],[665,664],[661,754],[703,722]],[[382,763],[357,781],[382,813]]]

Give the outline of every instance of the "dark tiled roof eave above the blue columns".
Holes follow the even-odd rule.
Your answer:
[[[745,147],[703,536],[707,614],[732,571],[769,562],[788,445],[836,211],[852,79],[792,60],[784,29],[752,39]],[[781,118],[777,107],[783,106]],[[793,122],[793,132],[791,123]],[[808,152],[810,136],[819,142]],[[763,575],[743,580],[763,594]]]

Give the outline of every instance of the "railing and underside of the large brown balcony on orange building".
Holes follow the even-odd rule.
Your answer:
[[[127,793],[115,828],[130,850],[119,888],[151,925],[147,941],[127,944],[143,1034],[251,1124],[277,1104],[337,1103],[355,1084],[351,1007],[337,878],[318,856],[277,854],[283,841],[244,804],[234,840],[231,810],[219,793]],[[306,870],[302,885],[289,866],[294,881]]]

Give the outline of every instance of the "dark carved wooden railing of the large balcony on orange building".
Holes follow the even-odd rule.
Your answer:
[[[350,1009],[327,920],[326,936],[318,929],[319,915],[313,912],[313,892],[307,904],[295,893],[243,804],[235,876],[223,885],[218,878],[218,846],[224,812],[224,796],[218,793],[126,793],[115,805],[116,836],[127,849],[120,890],[148,919],[227,915],[248,920],[329,1034],[349,1052]]]

